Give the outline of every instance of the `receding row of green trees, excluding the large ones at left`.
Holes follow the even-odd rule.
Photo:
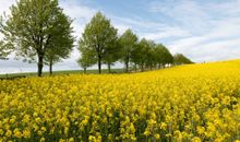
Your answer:
[[[107,64],[110,72],[110,67],[116,61],[124,63],[125,72],[129,72],[130,64],[133,64],[135,71],[144,71],[146,68],[159,69],[166,64],[192,63],[182,54],[172,56],[161,44],[145,38],[139,39],[131,29],[118,36],[117,28],[100,12],[86,25],[79,42],[79,50],[82,54],[79,63],[84,68],[84,72],[96,63],[99,73],[103,63]]]

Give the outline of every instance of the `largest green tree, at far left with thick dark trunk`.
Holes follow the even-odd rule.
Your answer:
[[[59,8],[58,0],[19,0],[11,7],[11,14],[1,22],[4,43],[14,48],[16,56],[35,61],[38,57],[38,75],[41,75],[46,52],[56,48],[57,42],[72,39],[71,21]],[[68,32],[63,32],[70,29]],[[69,46],[71,47],[71,42]]]

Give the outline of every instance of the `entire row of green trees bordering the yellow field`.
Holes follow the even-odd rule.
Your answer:
[[[10,14],[0,17],[0,59],[8,59],[8,55],[15,52],[16,58],[36,62],[38,76],[41,76],[44,64],[52,66],[69,58],[74,47],[75,37],[72,20],[63,13],[58,0],[19,0],[10,8]],[[97,12],[86,25],[77,44],[81,57],[79,64],[87,68],[120,61],[125,72],[130,68],[144,71],[158,69],[166,64],[192,63],[183,55],[172,56],[161,44],[139,37],[127,29],[118,35],[110,20]]]

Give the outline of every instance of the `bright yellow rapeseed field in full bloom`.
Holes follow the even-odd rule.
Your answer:
[[[240,60],[0,82],[0,141],[239,142]]]

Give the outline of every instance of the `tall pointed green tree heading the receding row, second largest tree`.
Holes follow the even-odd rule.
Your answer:
[[[117,42],[117,29],[111,25],[110,20],[97,12],[86,25],[82,35],[80,46],[87,48],[94,54],[98,62],[98,71],[101,72],[101,63],[107,60]],[[84,55],[84,52],[82,52]],[[109,58],[108,58],[109,59]]]

